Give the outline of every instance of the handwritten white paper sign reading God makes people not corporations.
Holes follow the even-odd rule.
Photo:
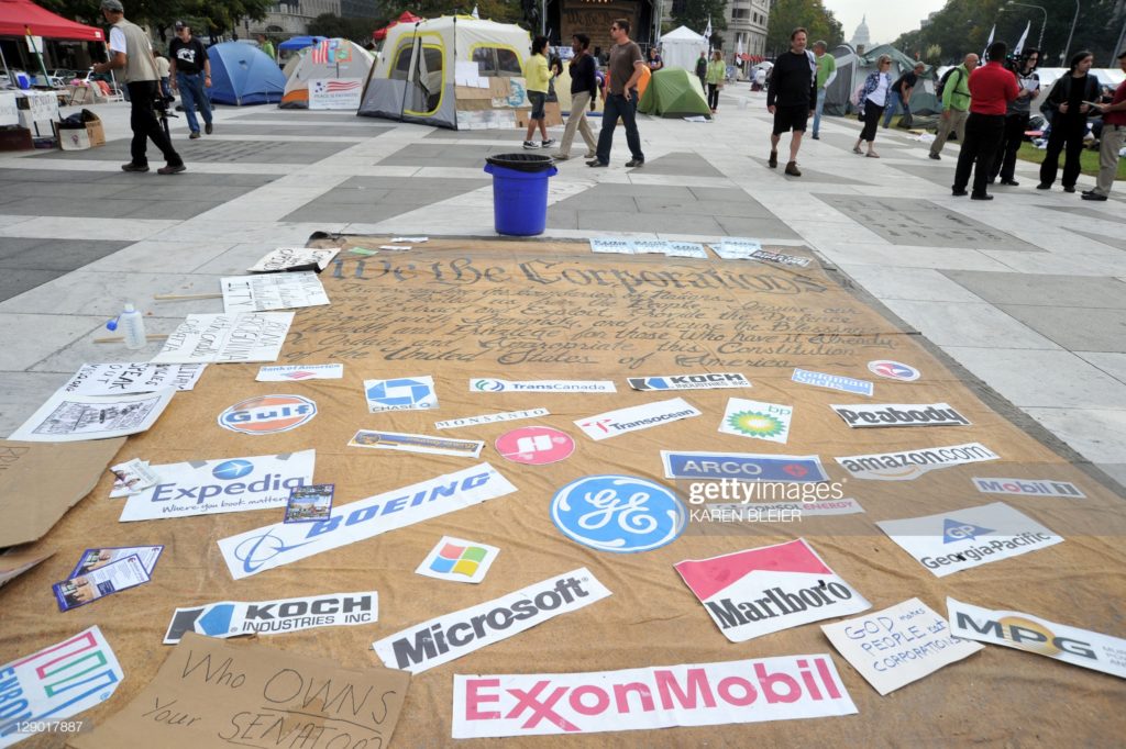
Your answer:
[[[821,630],[879,694],[918,682],[984,649],[954,637],[942,615],[918,598],[822,624]]]

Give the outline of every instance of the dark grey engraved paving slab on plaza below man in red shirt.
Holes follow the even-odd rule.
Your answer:
[[[814,195],[892,244],[1045,252],[956,210],[919,198]]]

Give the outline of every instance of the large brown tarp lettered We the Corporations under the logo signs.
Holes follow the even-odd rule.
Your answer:
[[[894,198],[886,202],[887,210],[895,209]],[[426,233],[426,224],[419,224],[417,231]],[[609,597],[415,676],[391,746],[457,746],[450,736],[454,676],[458,674],[534,676],[817,653],[835,664],[847,693],[856,703],[857,714],[763,722],[750,728],[712,725],[602,736],[575,732],[547,739],[518,739],[504,746],[814,747],[824,746],[826,737],[831,737],[835,747],[1120,745],[1126,731],[1126,715],[1120,709],[1121,679],[1044,656],[988,646],[966,660],[882,697],[835,653],[816,624],[793,626],[742,644],[729,642],[673,569],[674,563],[686,559],[705,559],[802,536],[833,572],[872,602],[872,611],[919,597],[945,614],[946,597],[950,595],[978,606],[1027,612],[1126,637],[1121,612],[1121,570],[1126,568],[1123,499],[1088,475],[1084,467],[1070,463],[998,413],[995,408],[1003,406],[997,405],[1001,400],[995,395],[972,380],[964,381],[964,370],[947,367],[940,352],[931,353],[921,343],[921,336],[885,318],[852,291],[856,287],[851,282],[817,268],[816,261],[810,268],[787,268],[756,261],[721,261],[714,256],[691,260],[596,255],[586,242],[431,235],[429,242],[415,244],[405,254],[372,258],[347,251],[347,247],[378,247],[387,241],[387,236],[339,240],[338,244],[345,247],[337,259],[340,265],[330,265],[321,274],[332,305],[297,310],[283,349],[279,363],[345,362],[343,379],[309,379],[285,385],[256,382],[257,367],[209,367],[193,391],[177,394],[153,428],[129,437],[118,459],[141,458],[160,466],[206,459],[233,461],[312,448],[316,450],[315,481],[336,485],[332,525],[356,532],[363,531],[368,522],[393,523],[397,511],[427,504],[422,495],[408,498],[404,493],[395,493],[397,489],[485,460],[518,490],[483,505],[467,506],[466,502],[465,508],[440,517],[235,581],[223,562],[217,542],[280,523],[282,508],[119,523],[122,502],[108,499],[113,478],[106,473],[93,493],[44,536],[44,543],[57,550],[54,557],[0,590],[5,603],[0,606],[0,664],[60,642],[91,624],[100,625],[126,678],[113,697],[80,716],[98,727],[153,679],[169,652],[160,642],[177,607],[377,590],[376,624],[277,631],[268,635],[272,647],[361,668],[378,662],[372,651],[375,640],[584,567],[611,592]],[[811,254],[797,246],[768,249]],[[917,381],[879,378],[868,369],[868,362],[875,359],[905,362],[917,368],[921,377]],[[795,367],[873,380],[875,394],[867,398],[796,383],[790,379]],[[626,385],[626,377],[695,372],[742,372],[753,387],[662,394],[638,392]],[[365,378],[421,376],[434,378],[437,409],[368,413]],[[486,377],[607,379],[617,383],[618,392],[471,391],[471,380]],[[309,423],[274,434],[251,436],[217,425],[218,414],[232,404],[276,392],[300,394],[316,403],[319,413]],[[703,415],[659,423],[605,442],[592,441],[574,424],[577,419],[590,421],[605,412],[676,395]],[[792,406],[787,443],[721,434],[718,426],[730,397]],[[948,403],[971,425],[854,430],[830,408],[832,404],[857,403]],[[463,426],[449,432],[435,427],[435,422],[443,419],[535,408],[546,408],[549,415]],[[577,444],[574,452],[558,462],[525,464],[511,462],[494,450],[494,442],[501,435],[521,425],[537,424],[570,434]],[[480,460],[347,446],[361,427],[484,440],[486,446]],[[911,480],[887,481],[850,478],[833,460],[840,455],[974,441],[994,450],[1001,460],[936,468]],[[805,516],[801,523],[776,522],[766,515],[758,522],[705,524],[691,520],[679,539],[640,553],[597,551],[572,541],[553,522],[549,507],[554,495],[575,479],[595,475],[636,476],[676,490],[690,508],[699,507],[691,502],[691,481],[673,482],[664,478],[661,450],[820,454],[832,481],[866,512]],[[240,467],[241,461],[240,466],[225,466]],[[205,487],[213,491],[221,487],[245,488],[235,487],[234,476],[242,473],[215,471],[215,479],[207,476]],[[1009,476],[1072,481],[1085,497],[990,495],[980,493],[972,481],[973,477]],[[167,487],[163,494],[171,496],[194,488]],[[370,506],[358,513],[349,509],[350,503],[383,493],[392,494],[378,515]],[[212,495],[211,502],[226,499],[225,494]],[[935,513],[950,513],[957,521],[957,511],[998,499],[1061,534],[1064,542],[940,578],[875,526],[878,521]],[[447,500],[463,502],[455,494],[439,497],[434,504]],[[599,511],[590,507],[591,527],[620,524],[622,529],[636,529],[653,518],[646,512],[653,498],[645,493],[619,496],[617,500],[613,497],[591,500],[599,502],[601,507]],[[964,538],[964,527],[956,524],[954,530],[960,535],[953,538]],[[318,527],[316,533],[321,531],[327,531],[327,526]],[[459,585],[414,572],[444,535],[501,549],[482,583]],[[1013,545],[1022,542],[1016,539]],[[295,550],[288,543],[267,535],[240,553],[253,563],[266,563],[284,560],[280,554],[291,550],[297,553],[305,548]],[[66,577],[84,549],[138,544],[166,547],[152,583],[75,611],[52,610],[51,584]],[[965,548],[965,544],[949,545]],[[833,589],[837,584],[830,581],[828,586]],[[815,594],[810,595],[816,599]],[[504,615],[485,616],[489,611],[480,612],[482,619],[517,624]],[[277,613],[274,608],[266,615]],[[832,615],[831,611],[824,613]],[[1029,638],[1035,637],[1035,631],[1038,630],[1024,630]],[[1051,632],[1046,634],[1053,637]],[[890,633],[886,642],[881,640],[878,648],[903,646],[910,656],[915,656],[911,647],[917,637],[919,633],[904,625],[901,631]],[[427,643],[425,639],[418,641]],[[1072,651],[1082,649],[1072,641],[1062,647]],[[888,652],[895,652],[878,648],[874,648],[873,659],[882,660]],[[1043,652],[1057,651],[1045,644]],[[214,661],[211,667],[216,674],[215,683],[204,688],[233,688],[229,685],[236,675],[220,670],[221,665]],[[202,684],[202,677],[197,678]],[[282,683],[279,678],[276,686]],[[293,679],[285,684],[289,689],[297,688]],[[713,680],[711,689],[706,684],[689,680],[686,685],[678,679],[674,686],[670,685],[670,692],[681,694],[683,704],[695,703],[695,712],[713,698],[721,701],[722,695],[741,702],[743,706],[730,707],[736,714],[756,715],[786,710],[792,689],[802,688],[799,679],[794,687],[785,678],[771,682],[769,673],[757,678],[750,671],[720,685]],[[306,701],[340,706],[340,718],[350,719],[350,711],[360,709],[363,692],[355,701],[350,691],[342,697],[336,696],[348,689],[347,684],[333,683],[330,689],[306,678],[301,694]],[[548,686],[527,693],[531,695],[530,706],[526,705],[528,709],[517,718],[529,724],[529,731],[563,728],[531,712],[540,705],[554,704],[564,710],[581,702],[588,707],[606,707],[599,700],[590,698],[598,696],[597,689],[590,691],[592,694],[580,693],[575,698],[564,694],[561,700],[553,691]],[[318,697],[325,694],[329,696]],[[624,694],[623,701],[627,698],[635,718],[644,695],[640,697],[636,691]],[[485,691],[481,695],[484,698],[476,702],[481,716],[500,709],[489,702],[490,695]],[[653,702],[660,700],[654,689]],[[614,704],[611,693],[610,707],[602,715],[611,729],[616,721]],[[263,712],[277,710],[271,702],[262,705]],[[164,706],[162,701],[161,707]],[[459,706],[464,714],[464,703]],[[367,707],[372,707],[370,702]],[[378,701],[374,707],[376,714],[382,714]],[[176,720],[178,706],[168,709]],[[258,733],[253,740],[247,740],[253,746],[277,743],[278,734],[267,733],[270,727],[280,729],[276,713],[269,719],[244,716],[238,727],[240,734],[244,729],[250,730],[256,720]],[[292,722],[295,720],[296,715],[287,718],[285,730],[296,725]],[[259,740],[259,736],[263,738]],[[356,738],[354,733],[354,745]],[[27,741],[26,746],[55,747],[61,746],[61,739],[43,737]],[[372,741],[368,743],[374,746]],[[465,746],[485,745],[465,742]]]

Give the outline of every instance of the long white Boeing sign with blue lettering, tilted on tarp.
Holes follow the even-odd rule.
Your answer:
[[[239,580],[513,491],[492,466],[480,463],[339,505],[321,523],[275,523],[223,539],[218,548],[231,577]]]

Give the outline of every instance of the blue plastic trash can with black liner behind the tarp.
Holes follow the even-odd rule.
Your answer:
[[[498,234],[533,236],[547,226],[547,181],[558,173],[551,156],[503,153],[486,159],[493,177],[493,226]]]

